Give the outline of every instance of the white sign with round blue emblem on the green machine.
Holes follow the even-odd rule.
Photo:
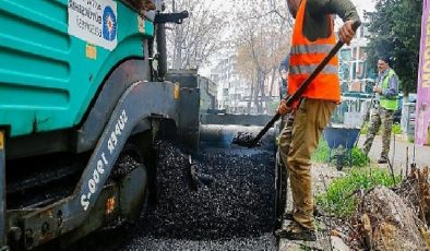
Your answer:
[[[114,50],[118,44],[117,2],[69,0],[69,34],[88,44]]]

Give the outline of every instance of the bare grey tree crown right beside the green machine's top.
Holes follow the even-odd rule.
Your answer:
[[[167,0],[167,11],[188,11],[182,24],[167,27],[168,59],[174,69],[199,68],[222,48],[225,13],[199,0]]]

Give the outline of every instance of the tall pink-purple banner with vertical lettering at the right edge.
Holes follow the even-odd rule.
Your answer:
[[[429,142],[430,130],[430,0],[422,2],[421,48],[419,56],[417,110],[415,119],[415,144]]]

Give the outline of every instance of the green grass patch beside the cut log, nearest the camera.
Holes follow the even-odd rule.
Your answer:
[[[358,190],[368,191],[377,186],[394,187],[401,182],[402,178],[392,176],[383,169],[354,168],[346,177],[335,179],[327,188],[326,193],[316,194],[316,203],[325,212],[347,217],[350,216],[357,206],[357,199],[354,193]]]

